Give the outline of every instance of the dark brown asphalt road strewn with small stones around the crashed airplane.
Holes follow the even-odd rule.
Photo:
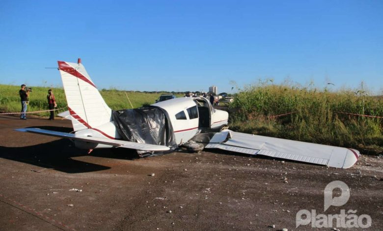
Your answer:
[[[331,230],[296,228],[301,209],[356,210],[371,228],[339,230],[383,230],[383,158],[362,156],[347,170],[221,151],[136,159],[13,131],[23,127],[71,131],[68,120],[0,115],[0,230]],[[335,180],[350,199],[324,211]]]

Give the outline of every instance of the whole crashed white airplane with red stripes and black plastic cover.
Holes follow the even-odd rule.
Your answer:
[[[17,131],[67,138],[76,147],[88,150],[119,147],[153,154],[170,152],[181,145],[200,147],[204,143],[204,148],[344,169],[352,167],[360,156],[351,148],[230,131],[226,129],[228,113],[214,109],[203,97],[175,98],[141,109],[112,111],[80,58],[78,63],[58,61],[58,69],[69,109],[66,117],[71,119],[74,133],[38,128]]]

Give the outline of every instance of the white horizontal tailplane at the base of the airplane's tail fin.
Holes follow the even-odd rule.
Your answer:
[[[96,144],[107,144],[107,145],[111,145],[115,147],[125,147],[125,148],[144,150],[144,151],[167,151],[170,149],[169,147],[163,146],[163,145],[140,144],[136,142],[112,140],[108,138],[99,138],[99,137],[76,137],[76,134],[72,134],[72,133],[56,132],[56,131],[39,129],[39,128],[20,128],[20,129],[15,129],[15,131],[30,132],[30,133],[36,133],[36,134],[42,134],[42,135],[48,135],[48,136],[67,138],[70,140],[78,140],[78,141],[84,141],[84,142],[96,143]]]

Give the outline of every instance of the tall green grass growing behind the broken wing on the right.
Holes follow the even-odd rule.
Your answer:
[[[260,84],[238,93],[230,111],[230,126],[237,131],[373,153],[383,150],[383,119],[339,114],[383,116],[382,98],[361,90]]]

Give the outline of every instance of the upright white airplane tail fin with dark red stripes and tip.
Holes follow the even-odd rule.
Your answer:
[[[57,61],[74,131],[97,127],[112,120],[111,109],[78,63]]]

